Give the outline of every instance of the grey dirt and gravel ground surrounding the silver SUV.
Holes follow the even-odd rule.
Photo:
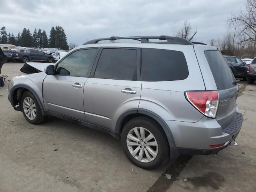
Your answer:
[[[22,74],[22,65],[4,64],[2,74],[11,80]],[[148,171],[130,163],[120,141],[102,132],[54,117],[29,124],[8,102],[6,84],[0,87],[0,191],[254,191],[256,85],[240,86],[244,122],[238,145],[217,155],[182,156]]]

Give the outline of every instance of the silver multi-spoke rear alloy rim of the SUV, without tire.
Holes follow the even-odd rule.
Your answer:
[[[158,154],[154,135],[143,127],[135,127],[127,135],[126,144],[132,156],[140,162],[151,162]]]

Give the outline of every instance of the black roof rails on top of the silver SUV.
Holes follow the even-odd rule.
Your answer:
[[[137,40],[140,41],[141,43],[166,43],[166,44],[180,44],[180,45],[193,45],[192,42],[180,38],[180,37],[171,37],[171,36],[166,36],[166,35],[161,35],[161,36],[132,36],[132,37],[116,37],[112,36],[110,38],[101,38],[101,39],[94,39],[90,40],[83,45],[87,44],[96,44],[99,41],[104,41],[104,40],[118,40],[118,39],[132,39],[132,40]],[[159,39],[159,40],[167,40],[167,42],[150,42],[149,39]]]

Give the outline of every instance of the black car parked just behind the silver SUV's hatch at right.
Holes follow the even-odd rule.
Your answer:
[[[243,80],[246,81],[246,72],[248,68],[246,62],[242,62],[240,58],[235,56],[224,55],[224,58],[230,66],[230,69],[234,76],[237,78],[243,78]]]

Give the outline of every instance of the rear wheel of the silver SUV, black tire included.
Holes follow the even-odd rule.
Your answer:
[[[145,131],[145,137],[141,137],[140,129]],[[135,130],[139,132],[138,137],[136,136]],[[152,134],[154,138],[147,140],[150,134]],[[132,140],[130,139],[131,137]],[[142,142],[140,139],[142,139]],[[162,128],[154,120],[146,116],[133,118],[124,125],[121,134],[121,142],[127,158],[133,164],[143,169],[152,170],[158,168],[162,166],[169,157],[170,147]],[[128,146],[127,142],[129,145],[132,145]],[[155,146],[152,146],[153,142]],[[155,157],[151,154],[152,150]],[[135,155],[132,155],[132,153]],[[142,158],[140,158],[140,156]]]

